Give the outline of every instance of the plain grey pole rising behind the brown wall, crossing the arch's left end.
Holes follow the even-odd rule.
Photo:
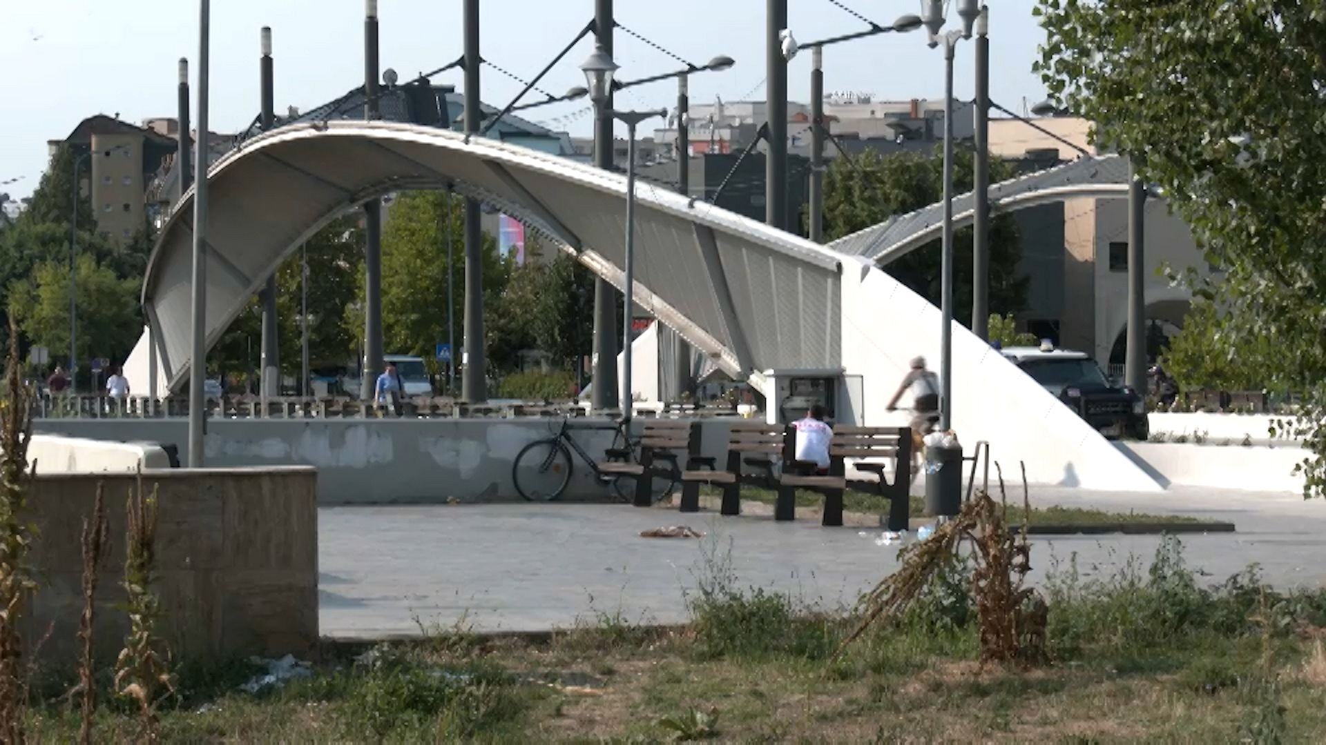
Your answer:
[[[198,137],[194,139],[198,186],[194,188],[192,354],[188,361],[188,465],[203,467],[203,388],[207,374],[207,76],[211,0],[199,1]]]

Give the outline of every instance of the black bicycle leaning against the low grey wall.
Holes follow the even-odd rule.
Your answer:
[[[569,418],[562,419],[557,432],[545,440],[529,443],[516,453],[516,460],[511,467],[511,479],[516,484],[516,492],[528,501],[552,501],[562,496],[566,485],[572,480],[572,452],[579,456],[594,472],[594,477],[601,484],[613,484],[613,489],[621,501],[629,502],[635,496],[635,479],[603,473],[585,448],[575,441],[572,432],[582,431],[613,431],[613,447],[606,455],[610,461],[639,463],[640,439],[631,437],[626,426],[621,422],[613,424],[572,424]],[[625,444],[625,447],[622,447]],[[569,445],[569,447],[568,447]],[[670,461],[671,468],[666,476],[655,473],[651,480],[650,496],[658,502],[672,493],[679,475],[676,456],[667,452],[656,452],[655,461]]]

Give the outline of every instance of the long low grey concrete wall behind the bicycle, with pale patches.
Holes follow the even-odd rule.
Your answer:
[[[206,451],[207,464],[220,468],[314,465],[324,505],[518,500],[512,484],[516,453],[550,437],[558,424],[552,419],[225,419],[208,422]],[[186,420],[52,419],[34,426],[41,432],[175,443],[187,449]],[[598,460],[613,432],[577,431],[574,437]],[[705,451],[721,455],[725,437],[724,422],[707,424]],[[609,493],[573,453],[564,498]]]

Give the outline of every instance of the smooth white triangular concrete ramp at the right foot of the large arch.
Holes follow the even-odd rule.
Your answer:
[[[869,260],[843,261],[842,355],[849,375],[862,375],[863,424],[904,424],[886,404],[926,355],[939,369],[940,310]],[[910,406],[904,398],[899,406]],[[1018,461],[1033,484],[1109,490],[1163,490],[1152,476],[1069,411],[1025,372],[953,322],[953,430],[968,453],[979,440],[1010,484]],[[991,477],[993,479],[993,469]]]

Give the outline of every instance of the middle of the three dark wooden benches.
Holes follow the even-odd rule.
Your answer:
[[[701,457],[699,447],[688,453],[682,471],[682,512],[700,510],[700,484],[723,489],[720,514],[741,514],[741,484],[772,487],[774,467],[790,457],[794,431],[784,424],[733,422],[728,430],[725,468],[717,471],[713,457]],[[745,467],[758,473],[748,473]]]

